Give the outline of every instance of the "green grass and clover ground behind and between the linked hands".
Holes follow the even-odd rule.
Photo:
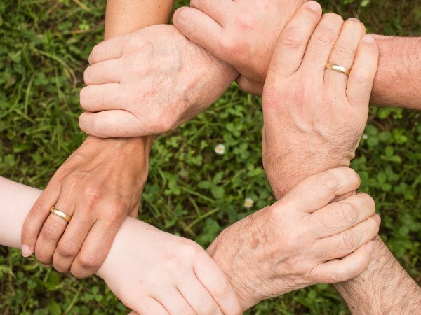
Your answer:
[[[187,1],[176,1],[176,6]],[[379,34],[421,35],[419,0],[324,0]],[[44,188],[84,139],[77,118],[105,1],[1,0],[0,175]],[[417,79],[417,78],[415,78]],[[225,226],[274,202],[262,169],[261,100],[232,86],[198,118],[154,142],[140,218],[206,246]],[[373,107],[352,163],[382,215],[380,234],[421,282],[420,113]],[[225,155],[213,148],[225,144]],[[255,200],[243,207],[246,197]],[[126,314],[96,277],[83,281],[0,247],[0,314]],[[330,286],[258,304],[249,314],[349,314]]]

